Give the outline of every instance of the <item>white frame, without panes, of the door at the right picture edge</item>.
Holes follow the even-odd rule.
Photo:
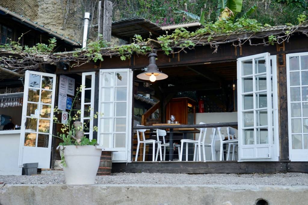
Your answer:
[[[289,159],[291,161],[308,161],[308,149],[303,149],[304,142],[303,142],[303,108],[302,108],[302,102],[308,102],[308,101],[302,101],[302,87],[307,87],[308,85],[302,86],[302,69],[301,69],[301,58],[298,59],[299,61],[299,70],[290,71],[290,57],[295,56],[307,56],[308,52],[302,52],[302,53],[290,53],[286,54],[286,74],[287,74],[287,99],[288,99],[288,136],[289,136]],[[305,69],[304,71],[308,71],[308,69]],[[300,74],[300,85],[299,86],[291,86],[290,85],[290,73],[291,72],[299,72]],[[301,117],[291,117],[291,93],[290,88],[291,87],[299,87],[300,88],[300,101],[293,101],[292,103],[301,103]],[[292,149],[292,121],[291,119],[301,119],[301,127],[302,132],[296,133],[302,135],[302,149]]]

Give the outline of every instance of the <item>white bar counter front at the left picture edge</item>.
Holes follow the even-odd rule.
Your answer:
[[[19,144],[20,130],[0,131],[0,175],[21,175]]]

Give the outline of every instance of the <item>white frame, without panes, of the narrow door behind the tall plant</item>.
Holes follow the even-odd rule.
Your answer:
[[[91,88],[86,88],[85,83],[86,83],[86,76],[91,76]],[[89,125],[87,125],[89,132],[84,132],[85,135],[89,135],[89,139],[93,139],[93,118],[94,118],[94,95],[95,95],[95,72],[87,72],[87,73],[82,73],[82,80],[81,80],[81,113],[80,113],[80,121],[83,123],[84,120],[90,120]],[[91,99],[90,102],[85,103],[85,91],[86,90],[91,90]],[[90,105],[90,116],[84,117],[84,106],[85,105]],[[86,111],[87,112],[87,111]]]

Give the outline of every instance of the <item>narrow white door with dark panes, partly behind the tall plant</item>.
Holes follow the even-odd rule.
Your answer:
[[[95,72],[82,73],[81,80],[81,113],[80,121],[83,123],[84,135],[93,139],[93,116],[94,116],[94,90]]]

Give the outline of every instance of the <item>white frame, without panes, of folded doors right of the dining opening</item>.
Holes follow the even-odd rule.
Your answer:
[[[242,73],[242,61],[247,61],[247,60],[252,60],[252,59],[256,59],[256,58],[261,58],[264,57],[265,61],[267,62],[266,64],[266,79],[271,79],[272,77],[272,82],[273,82],[273,92],[271,89],[271,81],[267,80],[266,81],[266,93],[267,93],[267,116],[268,116],[268,124],[267,124],[267,129],[268,129],[268,136],[273,136],[272,135],[272,112],[274,112],[274,143],[272,142],[273,139],[272,137],[268,137],[268,144],[251,144],[251,145],[243,145],[243,93],[242,93],[242,78],[245,77],[253,77],[255,74],[255,66],[253,63],[253,74],[252,75],[247,75],[247,76],[241,76]],[[269,71],[270,70],[270,60],[272,60],[272,74]],[[239,161],[278,161],[279,160],[279,143],[278,143],[278,95],[277,95],[277,63],[276,63],[276,56],[270,56],[269,53],[261,53],[261,54],[257,54],[257,55],[252,55],[252,56],[247,56],[247,57],[241,57],[238,58],[237,60],[237,89],[238,89],[238,133],[239,133]],[[261,73],[259,73],[261,74]],[[258,75],[259,75],[258,74]],[[265,73],[264,73],[265,74]],[[249,92],[249,93],[245,93],[245,95],[247,94],[253,94],[255,95],[255,77],[253,77],[253,91]],[[273,105],[274,107],[272,108],[272,104],[271,104],[271,100],[269,100],[269,98],[271,98],[271,94],[273,93]],[[253,98],[253,104],[256,105],[255,102],[255,98]],[[253,115],[254,115],[254,126],[252,127],[254,129],[254,133],[256,133],[256,111],[261,109],[255,108],[256,106],[254,106],[254,109],[251,109],[251,111],[253,111]],[[272,109],[269,109],[272,108]],[[250,110],[245,110],[245,111],[250,111]],[[258,126],[259,127],[259,126]],[[257,137],[254,136],[254,141],[256,143],[256,139]],[[246,149],[249,152],[252,152],[253,155],[252,156],[242,156],[242,149]],[[267,156],[258,156],[257,154],[257,149],[262,149],[262,148],[267,148],[268,149],[268,155]]]

